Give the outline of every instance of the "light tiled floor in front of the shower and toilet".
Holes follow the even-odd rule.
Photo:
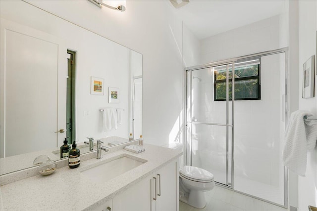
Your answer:
[[[180,211],[287,211],[281,207],[246,195],[215,186],[205,192],[207,205],[204,209],[193,208],[179,202]]]

